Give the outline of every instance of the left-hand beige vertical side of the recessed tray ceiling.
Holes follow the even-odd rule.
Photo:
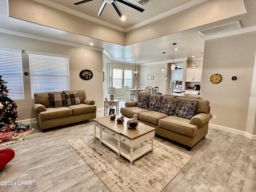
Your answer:
[[[9,0],[9,16],[74,34],[124,45],[124,32],[33,0]]]

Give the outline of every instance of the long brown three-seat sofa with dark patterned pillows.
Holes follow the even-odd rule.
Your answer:
[[[126,102],[122,115],[156,128],[156,134],[191,150],[208,133],[212,118],[208,100],[140,93],[138,101]]]

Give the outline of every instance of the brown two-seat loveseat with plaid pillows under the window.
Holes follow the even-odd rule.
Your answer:
[[[84,90],[34,94],[34,110],[40,128],[48,128],[96,118],[94,100]]]

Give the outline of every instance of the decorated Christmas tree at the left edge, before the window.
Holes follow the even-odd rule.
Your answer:
[[[0,75],[0,122],[10,124],[18,119],[18,115],[16,103],[8,97],[9,90],[5,85],[6,83],[2,80],[2,75]]]

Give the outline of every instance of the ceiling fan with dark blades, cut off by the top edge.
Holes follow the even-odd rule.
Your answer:
[[[80,1],[80,2],[74,3],[74,4],[75,4],[75,5],[79,5],[79,4],[82,4],[82,3],[89,2],[89,1],[92,1],[92,0],[84,0],[84,1]],[[99,10],[99,12],[98,12],[98,16],[101,15],[101,13],[102,13],[104,7],[106,6],[106,4],[112,4],[113,7],[115,8],[116,12],[117,12],[118,15],[120,16],[120,18],[122,18],[123,14],[122,14],[120,8],[118,7],[118,5],[116,4],[116,1],[118,1],[118,2],[120,2],[120,3],[122,3],[122,4],[125,4],[125,5],[127,5],[127,6],[129,6],[129,7],[131,7],[131,8],[134,8],[134,9],[140,11],[140,12],[143,12],[143,11],[144,11],[144,9],[142,9],[142,8],[140,8],[139,6],[136,6],[136,5],[130,3],[130,2],[128,2],[128,1],[126,1],[126,0],[104,0],[104,1],[102,2],[102,5],[100,6],[100,10]]]

